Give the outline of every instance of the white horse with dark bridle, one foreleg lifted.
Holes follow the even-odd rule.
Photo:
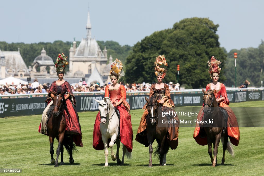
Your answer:
[[[103,98],[101,101],[96,100],[99,103],[99,111],[101,117],[100,123],[100,131],[102,134],[103,144],[105,146],[105,166],[108,166],[108,149],[107,149],[107,141],[111,139],[109,143],[109,147],[111,149],[111,158],[113,161],[117,160],[118,165],[124,164],[124,156],[126,155],[128,158],[131,158],[131,153],[127,151],[126,147],[123,144],[123,156],[122,161],[119,159],[119,148],[120,148],[120,138],[118,137],[118,131],[120,129],[119,118],[115,112],[115,108],[111,103],[109,97]],[[114,142],[116,142],[117,149],[116,155],[113,151]]]

